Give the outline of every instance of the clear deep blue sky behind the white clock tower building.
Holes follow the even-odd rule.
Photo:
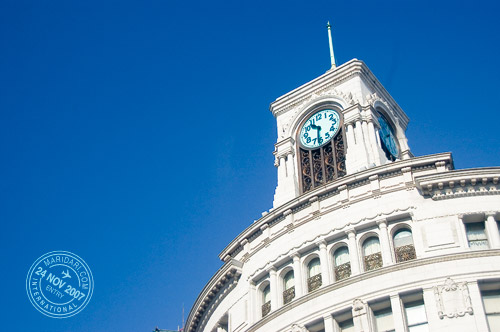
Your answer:
[[[500,165],[497,1],[0,2],[3,331],[177,328],[218,253],[272,205],[269,104],[358,58],[415,155]],[[30,265],[86,260],[78,315],[30,304]]]

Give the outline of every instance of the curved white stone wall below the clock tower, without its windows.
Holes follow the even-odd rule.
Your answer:
[[[449,162],[446,155],[427,158],[427,163],[440,167],[440,162],[434,162],[436,158]],[[398,164],[413,171],[410,175],[392,172],[390,167]],[[298,208],[300,201],[283,206],[287,213],[279,222],[273,223],[272,218],[281,210],[264,216],[252,225],[260,229],[258,235],[249,237],[251,241],[239,240],[245,248],[234,257],[243,264],[236,286],[216,306],[209,305],[214,308],[209,309],[210,318],[199,331],[216,331],[221,320],[228,320],[229,331],[285,332],[304,327],[332,332],[339,331],[336,317],[346,311],[352,312],[356,331],[374,331],[370,303],[381,299],[392,305],[396,331],[406,331],[400,298],[412,292],[422,294],[431,331],[487,331],[478,282],[500,280],[500,169],[492,169],[491,180],[484,185],[489,194],[478,189],[466,197],[433,199],[418,188],[418,182],[435,177],[439,181],[448,173],[460,177],[460,171],[446,169],[428,167],[418,158],[396,162],[375,169],[376,177],[366,174],[368,180],[358,174],[344,185],[344,193],[337,193],[332,184],[302,197],[301,201],[307,202],[305,208]],[[470,171],[462,174],[470,175]],[[475,187],[480,185],[482,182],[476,182]],[[336,194],[324,196],[328,191]],[[484,220],[489,249],[469,248],[463,224],[467,218]],[[417,257],[396,263],[392,235],[401,225],[411,228]],[[384,266],[366,272],[361,246],[370,234],[379,237]],[[333,251],[339,244],[349,247],[352,275],[336,281]],[[323,285],[308,293],[306,264],[312,257],[321,260]],[[289,269],[295,272],[296,297],[284,305],[282,277]],[[446,293],[440,302],[435,292],[448,278],[465,285],[467,293]],[[272,310],[262,318],[264,284],[271,285]],[[470,308],[463,311],[463,305],[449,298],[469,301]]]

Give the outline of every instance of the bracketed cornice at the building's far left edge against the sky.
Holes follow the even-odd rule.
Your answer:
[[[241,262],[231,259],[217,271],[203,288],[191,308],[186,321],[185,331],[196,331],[200,324],[206,323],[208,314],[215,307],[215,302],[220,302],[236,286],[241,276],[242,266]],[[226,286],[229,286],[229,289],[221,292]]]

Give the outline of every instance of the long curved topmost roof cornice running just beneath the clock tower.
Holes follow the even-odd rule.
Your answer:
[[[222,250],[222,252],[219,254],[219,258],[223,261],[231,259],[231,257],[235,256],[235,252],[240,252],[242,250],[240,243],[243,239],[248,239],[250,241],[250,238],[254,236],[254,234],[260,232],[260,227],[263,224],[269,224],[270,226],[273,226],[277,223],[277,220],[285,220],[284,213],[287,210],[296,212],[298,210],[306,208],[308,205],[310,205],[310,199],[314,196],[318,196],[320,199],[323,197],[327,198],[330,196],[330,194],[335,194],[335,192],[339,190],[346,189],[347,187],[352,188],[352,186],[356,186],[360,182],[369,181],[369,178],[374,175],[377,175],[379,178],[383,179],[385,177],[400,174],[401,169],[405,167],[411,167],[412,169],[427,168],[431,165],[435,165],[436,162],[445,162],[446,164],[452,166],[453,161],[451,158],[451,153],[440,153],[423,157],[416,157],[373,167],[351,175],[346,175],[336,181],[311,190],[310,192],[300,195],[299,197],[270,211],[259,220],[256,220],[252,225],[250,225],[242,233],[240,233],[233,241],[231,241],[231,243],[229,243],[229,245],[226,246],[224,250]]]

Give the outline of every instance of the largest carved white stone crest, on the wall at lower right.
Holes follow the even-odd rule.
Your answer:
[[[454,282],[447,278],[443,285],[434,286],[434,296],[440,319],[472,315],[472,303],[467,282]]]

